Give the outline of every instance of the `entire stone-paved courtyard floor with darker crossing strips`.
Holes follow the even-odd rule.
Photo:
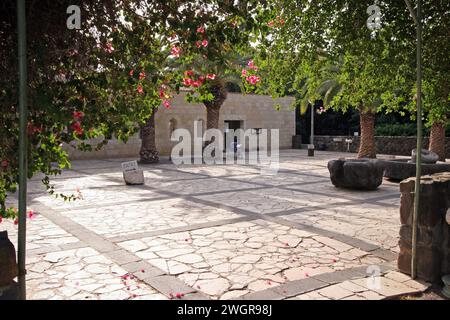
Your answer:
[[[248,165],[74,161],[53,179],[64,202],[29,184],[29,299],[383,299],[427,284],[396,271],[398,185],[336,189],[328,160],[284,150],[277,175]],[[10,238],[16,226],[3,223]]]

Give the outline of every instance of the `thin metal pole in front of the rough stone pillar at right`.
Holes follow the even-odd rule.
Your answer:
[[[422,162],[422,4],[417,1],[417,152],[416,152],[416,183],[414,187],[414,213],[411,248],[411,278],[417,273],[417,218],[420,205],[420,176]]]

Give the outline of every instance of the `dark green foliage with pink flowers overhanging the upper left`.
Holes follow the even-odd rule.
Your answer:
[[[81,8],[80,30],[66,27],[66,9]],[[199,26],[208,26],[203,54],[221,61],[215,43],[242,43],[252,29],[253,1],[30,0],[27,1],[29,124],[28,175],[49,176],[70,167],[63,144],[101,148],[113,136],[126,141],[182,85],[171,68],[197,50]],[[0,213],[18,178],[16,1],[0,4]],[[228,26],[228,27],[226,27]],[[176,35],[176,39],[173,36]],[[195,51],[197,52],[197,51]],[[97,145],[89,139],[104,138]]]

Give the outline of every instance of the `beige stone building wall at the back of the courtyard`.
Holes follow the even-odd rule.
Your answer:
[[[174,129],[184,128],[194,135],[194,121],[202,121],[206,128],[206,109],[203,104],[188,103],[181,93],[172,100],[172,107],[160,107],[156,113],[156,146],[161,155],[170,154],[176,142],[170,140]],[[220,111],[220,130],[224,131],[227,122],[233,121],[241,129],[279,129],[280,149],[292,147],[292,136],[295,135],[295,111],[291,107],[293,98],[273,100],[263,95],[242,95],[229,93]],[[278,107],[278,108],[276,108]],[[278,109],[278,110],[277,110]],[[270,141],[270,139],[269,139]],[[81,152],[66,146],[71,159],[92,159],[107,157],[138,157],[141,140],[132,137],[125,143],[111,140],[100,151]]]

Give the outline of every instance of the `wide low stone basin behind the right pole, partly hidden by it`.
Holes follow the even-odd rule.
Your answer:
[[[384,176],[394,181],[402,181],[416,175],[416,164],[409,159],[382,160]],[[450,172],[450,163],[422,163],[422,175]]]

